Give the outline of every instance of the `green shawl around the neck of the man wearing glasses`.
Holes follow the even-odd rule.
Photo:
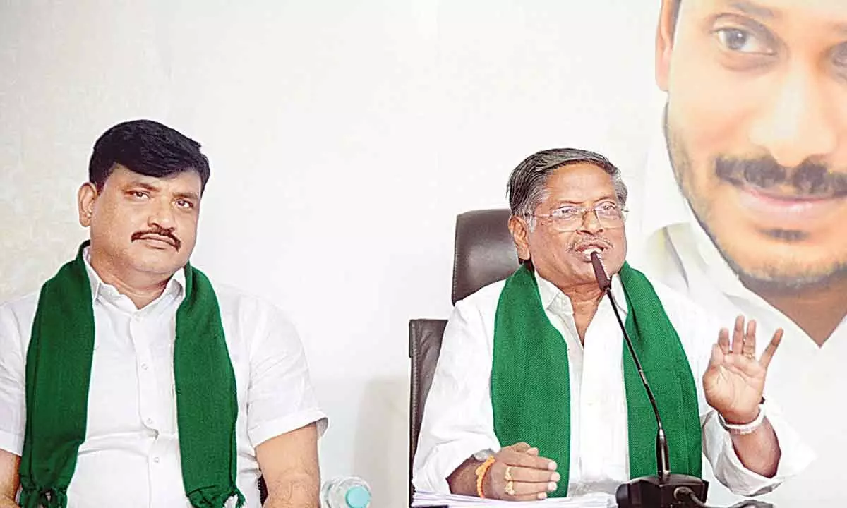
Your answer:
[[[643,273],[620,271],[629,312],[626,329],[656,395],[673,472],[700,476],[700,411],[694,376],[662,302]],[[656,418],[627,347],[623,379],[631,478],[656,474]],[[551,458],[562,476],[551,496],[567,495],[570,377],[567,343],[550,323],[534,274],[525,266],[506,280],[497,304],[491,369],[494,427],[501,444],[525,441]]]

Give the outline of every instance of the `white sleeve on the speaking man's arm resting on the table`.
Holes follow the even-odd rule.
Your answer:
[[[498,293],[499,294],[499,293]],[[446,478],[480,450],[500,450],[491,410],[491,338],[479,308],[457,302],[424,406],[415,489],[449,493]]]

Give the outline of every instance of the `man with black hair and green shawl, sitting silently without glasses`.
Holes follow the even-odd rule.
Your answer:
[[[318,506],[318,408],[296,331],[191,266],[200,145],[150,120],[94,145],[91,240],[0,306],[0,507]],[[19,490],[20,488],[20,490]]]

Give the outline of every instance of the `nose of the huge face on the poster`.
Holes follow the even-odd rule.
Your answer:
[[[794,168],[810,157],[828,156],[839,143],[838,106],[833,81],[813,65],[795,63],[778,80],[775,92],[763,97],[750,141],[781,165]]]

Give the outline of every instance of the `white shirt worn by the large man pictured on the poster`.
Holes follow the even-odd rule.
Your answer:
[[[844,500],[835,487],[847,478],[847,411],[838,401],[847,386],[847,318],[818,347],[789,317],[741,284],[679,191],[661,126],[657,121],[644,174],[628,180],[633,199],[627,221],[629,259],[650,279],[688,295],[725,322],[742,313],[756,319],[761,338],[785,330],[768,372],[767,391],[817,458],[763,499],[778,506],[841,505]],[[712,493],[721,502],[734,500],[721,489]]]

